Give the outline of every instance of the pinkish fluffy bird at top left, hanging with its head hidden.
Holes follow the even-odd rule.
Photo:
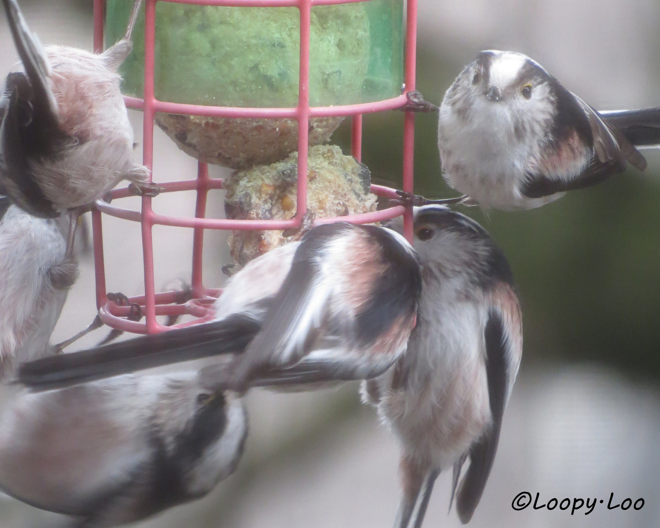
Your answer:
[[[101,198],[119,181],[153,194],[136,163],[133,129],[117,73],[133,44],[136,0],[125,37],[96,55],[48,45],[28,28],[16,0],[3,0],[24,71],[10,73],[0,99],[0,185],[30,214],[55,218]],[[71,230],[76,218],[72,218]],[[73,233],[69,236],[69,247]]]

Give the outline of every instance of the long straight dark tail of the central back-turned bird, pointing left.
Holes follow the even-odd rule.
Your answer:
[[[258,321],[234,314],[220,321],[23,363],[16,382],[41,392],[146,368],[240,353],[260,328]]]

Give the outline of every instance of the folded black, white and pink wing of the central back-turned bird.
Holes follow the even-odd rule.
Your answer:
[[[348,223],[315,227],[296,250],[261,332],[231,370],[205,368],[202,383],[242,390],[285,379],[377,376],[405,350],[420,291],[416,256],[401,235]]]

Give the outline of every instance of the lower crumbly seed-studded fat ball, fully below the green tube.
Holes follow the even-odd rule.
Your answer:
[[[335,145],[318,145],[308,154],[307,206],[317,218],[374,212],[366,165],[344,156]],[[224,181],[227,218],[238,220],[290,219],[296,214],[298,153],[271,165],[236,171]],[[291,241],[282,231],[232,231],[229,246],[240,266]]]

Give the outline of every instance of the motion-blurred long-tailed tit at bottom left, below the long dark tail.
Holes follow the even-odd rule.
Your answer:
[[[21,392],[0,420],[0,489],[77,528],[132,523],[211,491],[247,431],[242,401],[194,371]]]

